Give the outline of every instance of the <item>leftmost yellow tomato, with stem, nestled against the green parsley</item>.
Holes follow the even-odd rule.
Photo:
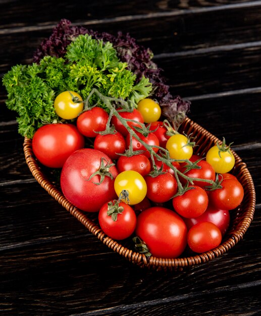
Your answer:
[[[74,101],[74,97],[82,101],[81,96],[73,91],[64,91],[56,97],[54,107],[56,114],[60,116],[60,118],[72,120],[77,118],[82,112],[83,102]]]

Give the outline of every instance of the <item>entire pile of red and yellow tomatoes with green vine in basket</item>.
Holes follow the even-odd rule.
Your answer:
[[[154,100],[130,110],[126,102],[115,107],[119,100],[92,93],[107,111],[84,109],[88,100],[65,91],[55,110],[75,124],[44,125],[32,140],[40,163],[62,169],[65,197],[83,211],[98,212],[109,237],[136,236],[136,249],[147,255],[175,258],[187,246],[196,253],[217,247],[229,227],[229,210],[244,194],[229,173],[235,159],[225,139],[203,158],[193,154],[194,139],[159,121]]]

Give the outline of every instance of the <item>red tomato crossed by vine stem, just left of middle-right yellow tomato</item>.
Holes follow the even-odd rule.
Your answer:
[[[144,135],[142,135],[142,134],[140,134],[138,132],[136,132],[136,134],[142,141],[144,141],[146,144],[150,145],[155,152],[158,152],[159,148],[158,147],[154,147],[154,146],[159,146],[160,143],[159,143],[159,139],[154,134],[149,133],[147,137],[145,137]],[[130,146],[130,135],[128,135],[126,137],[126,145],[127,145],[127,148],[129,148],[129,146]],[[135,137],[132,137],[132,147],[133,147],[134,151],[144,150],[143,154],[146,157],[150,157],[149,151]]]

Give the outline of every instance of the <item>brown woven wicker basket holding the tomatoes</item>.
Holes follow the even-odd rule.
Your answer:
[[[184,131],[191,137],[196,137],[197,146],[194,148],[195,154],[202,156],[206,155],[208,149],[216,144],[217,141],[221,144],[222,141],[217,137],[203,129],[198,124],[186,118],[180,126],[180,131]],[[228,232],[223,238],[222,243],[205,253],[195,254],[191,256],[184,256],[179,258],[158,258],[146,257],[135,251],[134,245],[131,240],[118,241],[108,237],[99,227],[97,221],[97,214],[82,212],[80,209],[71,204],[56,185],[50,182],[46,172],[38,165],[33,151],[31,139],[25,138],[24,140],[24,154],[26,163],[37,182],[63,207],[65,207],[79,222],[81,222],[93,235],[95,235],[103,244],[106,244],[113,251],[118,252],[127,260],[139,267],[147,267],[153,270],[183,270],[192,266],[197,266],[210,261],[216,257],[223,255],[229,249],[243,238],[246,230],[248,229],[254,215],[255,209],[255,190],[252,177],[242,162],[240,157],[231,150],[235,156],[235,167],[231,172],[237,177],[244,188],[244,198],[242,203],[237,209],[231,211],[231,223]]]

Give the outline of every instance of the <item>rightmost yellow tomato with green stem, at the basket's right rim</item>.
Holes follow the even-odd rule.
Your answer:
[[[217,145],[207,151],[206,161],[213,166],[217,173],[227,173],[235,165],[235,157],[230,149],[222,151]]]

